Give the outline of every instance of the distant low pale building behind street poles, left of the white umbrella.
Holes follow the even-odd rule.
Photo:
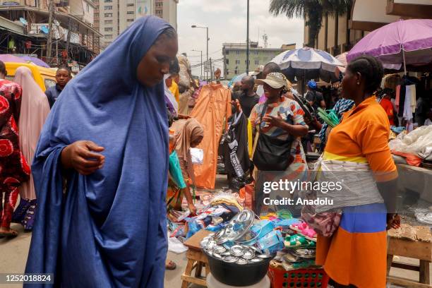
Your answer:
[[[250,42],[249,47],[249,71],[257,66],[268,64],[277,54],[289,49],[295,49],[296,44],[282,45],[281,48],[263,48],[258,42]],[[224,76],[231,80],[234,76],[246,72],[246,43],[224,43],[222,54],[224,55]]]

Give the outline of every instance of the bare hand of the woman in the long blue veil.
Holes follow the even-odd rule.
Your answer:
[[[79,174],[90,175],[103,167],[105,157],[95,153],[103,150],[92,141],[76,141],[61,151],[61,164],[64,169],[75,169]]]

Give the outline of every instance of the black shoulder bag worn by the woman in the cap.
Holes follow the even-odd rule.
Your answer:
[[[263,107],[260,120],[262,122],[267,105]],[[262,131],[258,136],[253,164],[260,171],[284,171],[294,161],[291,155],[292,140],[280,140],[265,135]]]

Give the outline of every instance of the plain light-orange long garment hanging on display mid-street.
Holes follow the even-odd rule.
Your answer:
[[[203,164],[194,165],[195,184],[207,189],[215,188],[217,148],[225,119],[231,116],[231,91],[221,84],[203,86],[191,117],[204,126],[204,138],[198,148],[204,150]]]

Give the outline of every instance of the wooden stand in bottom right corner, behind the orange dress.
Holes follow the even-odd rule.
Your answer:
[[[402,256],[420,260],[420,265],[393,262],[393,256]],[[431,288],[429,264],[432,261],[432,243],[407,241],[390,237],[387,252],[387,275],[390,268],[402,268],[420,272],[420,281],[414,282],[399,277],[387,277],[388,283],[412,288]]]

